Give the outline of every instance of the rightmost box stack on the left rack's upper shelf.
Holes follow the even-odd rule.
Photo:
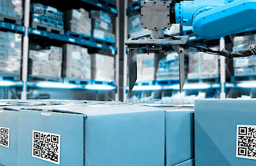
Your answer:
[[[113,24],[110,15],[101,10],[92,10],[91,18],[93,38],[115,43],[115,34],[113,34]]]

